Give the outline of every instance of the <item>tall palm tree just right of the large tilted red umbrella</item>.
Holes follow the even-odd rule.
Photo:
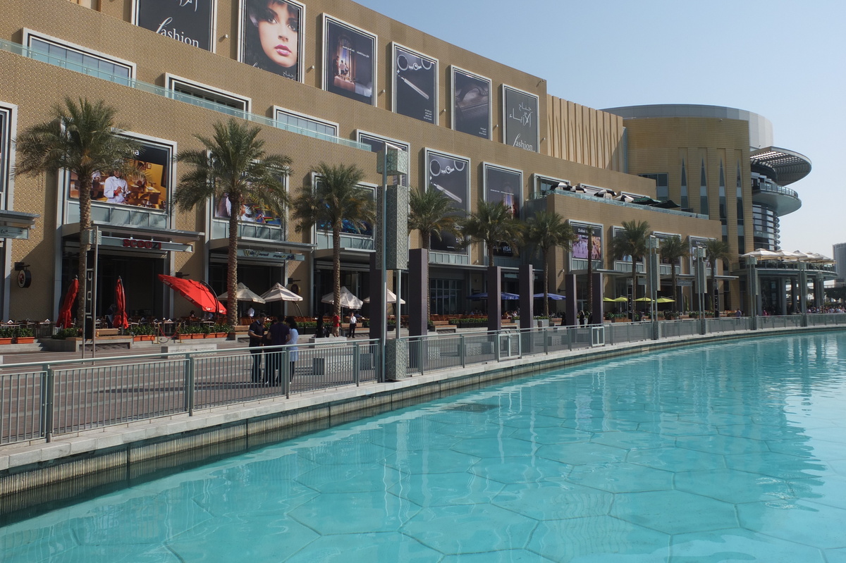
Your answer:
[[[229,243],[226,275],[227,322],[238,320],[238,225],[242,205],[256,205],[274,216],[283,216],[288,204],[284,178],[291,172],[291,159],[268,155],[265,142],[258,139],[261,128],[234,118],[217,122],[211,139],[195,135],[201,150],[180,152],[177,160],[193,166],[179,179],[173,203],[179,210],[190,210],[209,198],[228,198]]]

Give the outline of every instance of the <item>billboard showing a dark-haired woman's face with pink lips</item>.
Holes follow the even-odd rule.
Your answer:
[[[290,0],[241,0],[239,60],[302,81],[305,6]]]

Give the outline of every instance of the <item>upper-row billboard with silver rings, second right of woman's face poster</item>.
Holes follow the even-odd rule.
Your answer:
[[[393,111],[436,123],[437,59],[393,44]]]

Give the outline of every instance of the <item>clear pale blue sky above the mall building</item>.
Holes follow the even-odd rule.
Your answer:
[[[588,107],[758,113],[772,122],[774,145],[813,164],[790,186],[802,207],[782,217],[782,248],[831,256],[833,243],[846,243],[844,0],[358,2],[547,79],[550,94]]]

